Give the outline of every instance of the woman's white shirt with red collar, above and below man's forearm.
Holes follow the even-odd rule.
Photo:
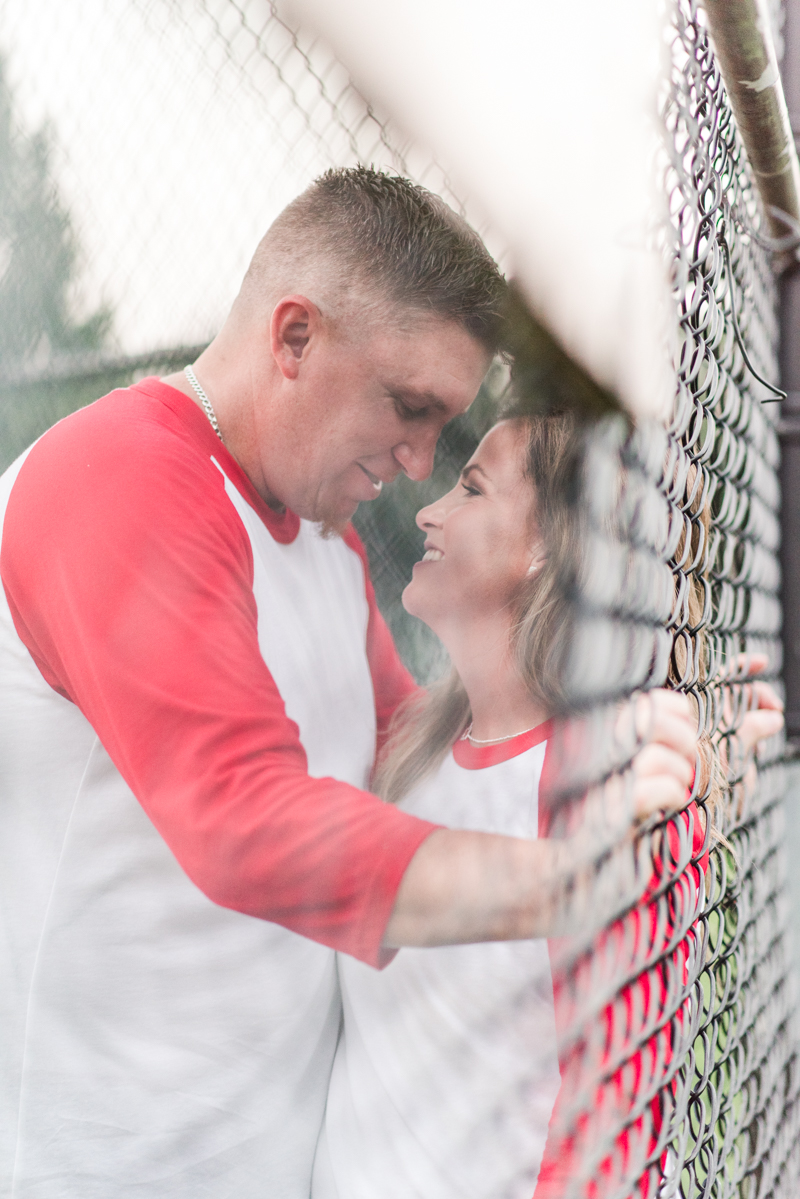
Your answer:
[[[402,801],[535,838],[549,725],[457,741]],[[344,1006],[312,1199],[530,1199],[560,1085],[546,940],[339,957]]]

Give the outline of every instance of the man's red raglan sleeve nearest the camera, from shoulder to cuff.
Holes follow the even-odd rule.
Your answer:
[[[259,652],[248,538],[198,450],[212,435],[199,410],[190,435],[152,408],[113,393],[30,452],[0,553],[17,632],[210,899],[381,964],[397,887],[435,826],[309,778]]]

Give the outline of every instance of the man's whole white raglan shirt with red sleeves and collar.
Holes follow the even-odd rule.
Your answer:
[[[307,1199],[339,1024],[432,823],[350,532],[155,379],[0,481],[0,1194]]]

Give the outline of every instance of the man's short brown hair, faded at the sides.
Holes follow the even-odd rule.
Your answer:
[[[505,281],[486,246],[439,197],[371,167],[329,170],[261,240],[236,301],[263,309],[279,294],[321,288],[336,318],[416,314],[461,324],[497,348]]]

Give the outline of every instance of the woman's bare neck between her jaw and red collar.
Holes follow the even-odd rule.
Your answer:
[[[480,627],[440,633],[469,697],[473,736],[506,737],[542,724],[549,716],[530,695],[509,647],[511,623],[503,616]]]

